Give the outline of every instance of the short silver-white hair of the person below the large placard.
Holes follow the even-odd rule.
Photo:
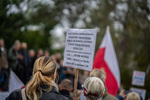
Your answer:
[[[105,86],[102,80],[97,77],[87,78],[84,82],[83,87],[86,97],[91,100],[99,99],[105,91]]]

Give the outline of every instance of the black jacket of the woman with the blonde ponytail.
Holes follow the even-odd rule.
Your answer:
[[[6,100],[22,100],[21,89],[13,91]],[[50,92],[42,92],[39,100],[69,100],[68,98],[61,95],[56,89],[53,87]]]

